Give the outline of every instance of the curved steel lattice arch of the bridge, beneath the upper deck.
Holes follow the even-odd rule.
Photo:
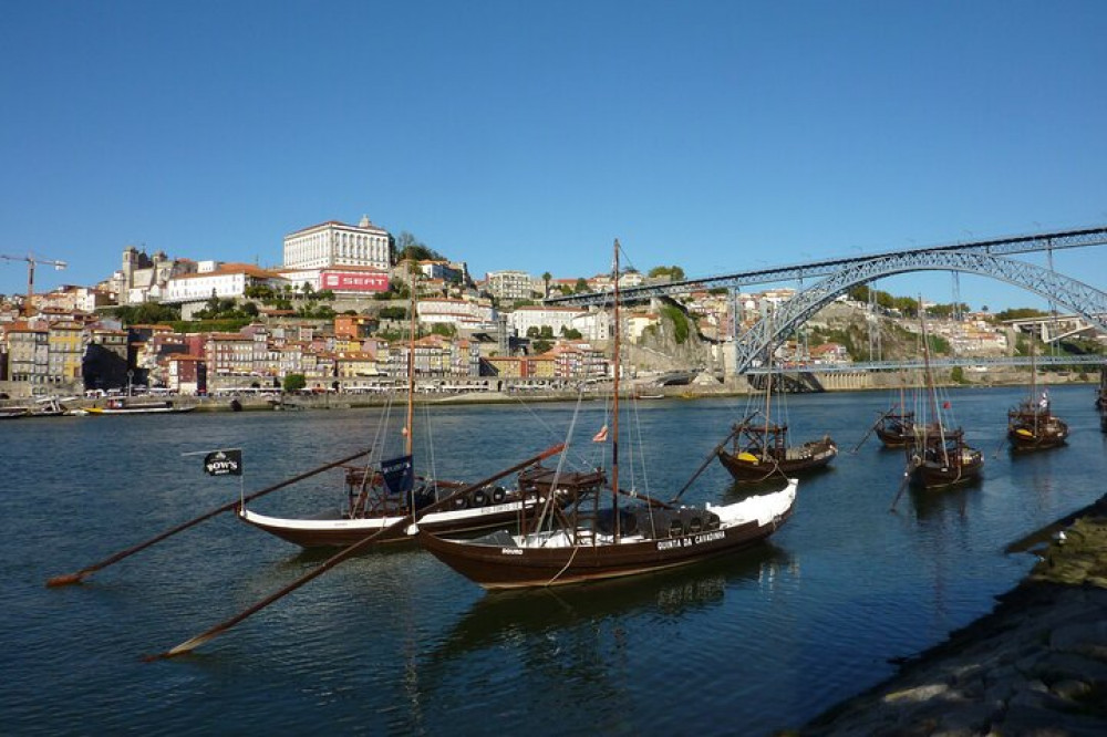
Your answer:
[[[992,277],[1065,305],[1098,330],[1107,332],[1107,293],[1032,263],[983,251],[907,251],[855,262],[798,292],[772,319],[763,318],[735,345],[735,373],[754,364],[766,347],[789,334],[851,287],[908,271],[964,271]]]

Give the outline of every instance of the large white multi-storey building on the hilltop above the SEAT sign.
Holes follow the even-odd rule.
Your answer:
[[[392,267],[392,237],[362,217],[355,226],[329,220],[284,236],[286,269]]]

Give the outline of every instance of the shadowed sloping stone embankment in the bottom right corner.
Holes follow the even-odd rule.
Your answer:
[[[782,734],[1107,734],[1107,496],[1008,551],[1028,549],[1037,564],[991,614]]]

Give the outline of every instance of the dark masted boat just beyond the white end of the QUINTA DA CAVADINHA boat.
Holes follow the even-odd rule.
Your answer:
[[[829,435],[803,445],[789,445],[788,426],[772,421],[772,355],[770,349],[764,411],[759,409],[734,425],[731,428],[731,449],[720,447],[716,451],[720,463],[736,481],[764,481],[774,474],[785,478],[818,470],[838,455],[838,446]]]

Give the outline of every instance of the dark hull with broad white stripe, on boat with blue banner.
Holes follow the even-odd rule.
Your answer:
[[[531,499],[527,509],[534,507]],[[452,510],[427,516],[418,528],[426,528],[438,534],[468,534],[515,525],[519,517],[518,500],[506,500],[500,505]],[[301,548],[346,548],[364,540],[390,526],[395,526],[379,538],[379,542],[396,544],[414,542],[416,529],[407,525],[395,525],[402,515],[349,519],[335,516],[333,519],[282,519],[258,515],[249,510],[239,511],[239,519]]]

